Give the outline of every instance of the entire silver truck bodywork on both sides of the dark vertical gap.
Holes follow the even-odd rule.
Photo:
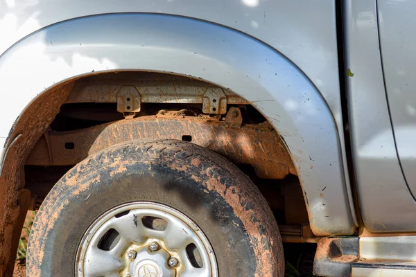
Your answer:
[[[414,5],[344,1],[340,71],[336,1],[1,0],[2,170],[17,136],[31,134],[14,133],[26,107],[57,84],[114,71],[189,75],[239,94],[272,123],[291,152],[315,235],[414,232]]]

